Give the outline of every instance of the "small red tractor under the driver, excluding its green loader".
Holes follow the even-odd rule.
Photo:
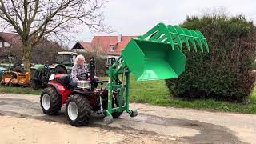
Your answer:
[[[85,74],[85,81],[78,82],[78,86],[70,86],[70,75],[57,74],[50,77],[46,89],[42,90],[40,103],[44,114],[58,114],[62,106],[66,104],[66,118],[73,126],[84,126],[88,124],[90,115],[105,114],[108,106],[108,90],[102,87],[97,88],[108,81],[99,81],[94,77],[94,58],[90,59],[90,77]],[[118,90],[112,90],[113,107],[118,107]],[[122,111],[112,114],[118,118]],[[113,122],[111,118],[104,118],[106,123]]]

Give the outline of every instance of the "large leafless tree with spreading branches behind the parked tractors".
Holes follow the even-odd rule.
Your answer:
[[[63,40],[81,25],[106,30],[102,25],[104,0],[0,0],[0,26],[22,38],[22,61],[30,71],[33,47],[44,38]]]

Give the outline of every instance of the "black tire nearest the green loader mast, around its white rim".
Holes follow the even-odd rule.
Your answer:
[[[78,109],[78,115],[76,118],[70,118],[69,106],[75,104]],[[90,120],[90,114],[92,114],[92,106],[90,102],[80,94],[74,94],[68,98],[66,102],[66,118],[72,126],[86,126]],[[72,120],[73,119],[73,120]]]

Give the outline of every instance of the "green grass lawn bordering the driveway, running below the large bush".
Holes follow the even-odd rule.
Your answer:
[[[102,78],[102,79],[106,79]],[[3,93],[40,94],[41,90],[30,88],[3,87]],[[249,104],[219,102],[213,99],[185,101],[172,98],[166,88],[164,81],[135,82],[134,77],[130,78],[130,102],[150,103],[153,105],[173,106],[180,108],[192,108],[196,110],[229,111],[245,114],[256,114],[256,89],[254,89]]]

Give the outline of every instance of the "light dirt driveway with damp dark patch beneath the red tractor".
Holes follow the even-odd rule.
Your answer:
[[[132,103],[138,116],[123,114],[105,125],[93,115],[74,127],[64,110],[42,114],[38,95],[0,94],[0,143],[256,143],[256,115],[212,113]]]

